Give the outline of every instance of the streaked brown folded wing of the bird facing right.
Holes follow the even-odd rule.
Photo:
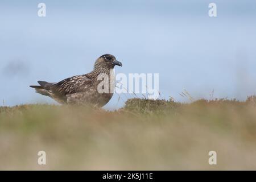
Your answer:
[[[85,75],[66,78],[50,86],[50,90],[56,96],[65,97],[67,94],[85,91],[92,85],[92,80]]]

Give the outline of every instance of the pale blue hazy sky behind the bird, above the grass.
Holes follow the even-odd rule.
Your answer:
[[[28,86],[88,73],[104,53],[122,61],[116,73],[159,73],[160,98],[189,102],[180,95],[187,90],[194,99],[246,100],[256,94],[255,32],[249,0],[1,1],[0,105],[56,104]],[[131,97],[114,94],[104,108]]]

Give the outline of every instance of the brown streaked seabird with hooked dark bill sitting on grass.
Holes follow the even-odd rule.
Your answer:
[[[113,72],[115,65],[122,67],[122,63],[115,59],[115,56],[107,53],[98,57],[93,71],[85,75],[72,76],[59,82],[38,81],[39,85],[30,85],[30,87],[34,88],[36,93],[51,97],[59,104],[102,107],[110,101],[113,92],[99,92],[99,88],[106,89],[105,85],[102,85],[102,80],[106,78],[102,79],[100,76],[108,77],[105,81],[108,81],[107,90],[110,91],[112,89],[110,87],[115,86]]]

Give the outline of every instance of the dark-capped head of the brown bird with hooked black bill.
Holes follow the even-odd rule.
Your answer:
[[[95,61],[94,68],[114,68],[115,65],[122,67],[122,63],[115,59],[115,56],[105,54]]]

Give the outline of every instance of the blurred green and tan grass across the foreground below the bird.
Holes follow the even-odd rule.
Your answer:
[[[256,169],[256,97],[0,107],[0,169]],[[47,165],[39,166],[38,151]],[[217,152],[217,165],[208,152]]]

